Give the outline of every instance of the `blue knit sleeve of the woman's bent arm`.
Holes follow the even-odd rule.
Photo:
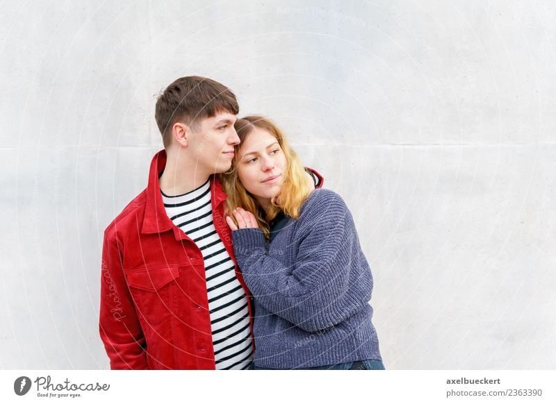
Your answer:
[[[345,203],[332,191],[313,192],[318,195],[302,210],[295,246],[284,244],[296,250],[292,266],[269,255],[261,230],[232,233],[243,278],[259,304],[307,332],[341,323],[368,304],[373,288]]]

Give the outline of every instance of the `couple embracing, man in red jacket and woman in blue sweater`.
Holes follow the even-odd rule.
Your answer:
[[[156,102],[164,150],[104,233],[111,368],[384,369],[349,210],[270,119],[238,109],[197,76]]]

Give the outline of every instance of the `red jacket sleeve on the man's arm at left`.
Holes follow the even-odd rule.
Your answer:
[[[149,369],[145,335],[124,278],[120,249],[106,233],[101,270],[99,332],[110,357],[110,367]]]

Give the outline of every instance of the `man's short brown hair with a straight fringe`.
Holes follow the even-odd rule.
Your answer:
[[[176,122],[195,126],[218,112],[238,115],[238,100],[228,87],[205,77],[178,78],[166,87],[156,101],[154,118],[164,147],[172,142],[172,126]]]

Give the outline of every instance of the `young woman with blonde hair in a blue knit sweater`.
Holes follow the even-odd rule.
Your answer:
[[[236,131],[222,183],[254,296],[255,369],[384,369],[368,304],[373,278],[343,199],[313,190],[270,119],[239,119]]]

